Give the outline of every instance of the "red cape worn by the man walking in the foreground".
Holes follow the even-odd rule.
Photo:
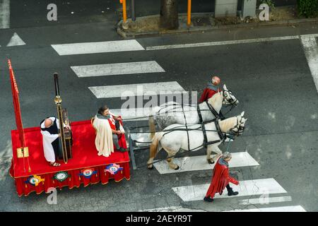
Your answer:
[[[220,165],[216,162],[216,166],[213,169],[213,176],[211,180],[211,184],[208,187],[208,191],[206,192],[206,197],[210,196],[211,198],[218,192],[218,194],[222,194],[225,187],[231,182],[232,184],[238,184],[237,180],[230,177],[228,174],[228,166]]]

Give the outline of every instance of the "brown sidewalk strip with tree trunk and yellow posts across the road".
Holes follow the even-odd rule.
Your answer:
[[[258,15],[258,13],[257,13]],[[126,23],[119,21],[117,32],[124,38],[134,38],[149,35],[176,34],[187,32],[209,32],[218,29],[230,28],[257,28],[261,26],[297,25],[298,23],[317,23],[318,18],[298,18],[294,6],[276,7],[270,13],[269,21],[259,18],[214,18],[213,13],[193,13],[192,23],[187,26],[187,13],[179,13],[179,29],[161,30],[159,28],[159,15],[131,18]]]

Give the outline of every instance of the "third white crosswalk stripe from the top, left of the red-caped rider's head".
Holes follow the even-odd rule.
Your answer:
[[[185,92],[182,86],[177,82],[105,85],[88,88],[97,98],[164,95],[166,92]]]

